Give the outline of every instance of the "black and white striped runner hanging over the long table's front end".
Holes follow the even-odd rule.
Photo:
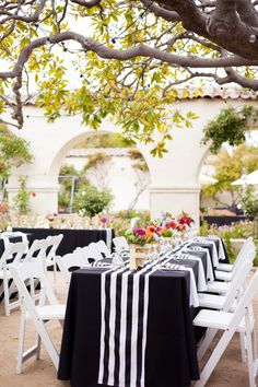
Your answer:
[[[139,272],[126,267],[102,273],[98,384],[144,386],[149,277],[155,265]]]

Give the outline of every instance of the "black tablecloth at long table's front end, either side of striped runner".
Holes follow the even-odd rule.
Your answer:
[[[150,275],[145,387],[187,387],[199,377],[188,282],[186,271]],[[71,278],[59,379],[70,379],[72,387],[99,386],[99,337],[101,270],[81,269]]]

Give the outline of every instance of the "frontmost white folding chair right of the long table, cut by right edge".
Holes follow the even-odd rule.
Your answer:
[[[257,374],[257,355],[255,347],[255,331],[253,329],[254,325],[251,325],[250,321],[250,308],[257,290],[258,272],[253,277],[242,300],[236,306],[235,312],[230,313],[223,310],[202,309],[194,319],[195,326],[206,327],[213,330],[220,329],[224,331],[203,370],[201,371],[200,379],[195,384],[195,387],[206,386],[211,373],[236,331],[243,331],[246,336],[249,387],[256,386],[255,377]]]

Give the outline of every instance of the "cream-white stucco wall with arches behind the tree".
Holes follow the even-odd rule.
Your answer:
[[[139,144],[139,150],[149,166],[150,208],[152,218],[160,216],[162,211],[177,214],[181,210],[199,220],[200,169],[208,152],[208,146],[200,145],[202,128],[215,117],[221,108],[230,105],[255,104],[242,99],[200,98],[181,101],[175,108],[184,112],[192,110],[199,118],[192,129],[174,129],[173,141],[167,144],[168,153],[163,159],[153,159],[150,149]],[[173,107],[172,107],[173,108]],[[94,132],[81,126],[80,117],[60,117],[54,124],[47,124],[43,110],[27,106],[24,109],[24,127],[13,130],[31,141],[34,163],[12,171],[8,191],[12,201],[19,189],[19,175],[27,175],[27,188],[36,192],[32,200],[32,209],[45,214],[57,210],[58,174],[68,152],[87,136]],[[103,122],[102,131],[117,131],[113,122]],[[124,190],[122,190],[124,191]]]

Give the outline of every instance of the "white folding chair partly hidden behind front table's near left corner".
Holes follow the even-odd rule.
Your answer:
[[[66,254],[64,256],[56,256],[57,265],[66,280],[67,285],[69,285],[71,280],[71,269],[80,269],[85,266],[85,260],[83,255],[78,251]],[[90,266],[90,263],[87,265]]]

